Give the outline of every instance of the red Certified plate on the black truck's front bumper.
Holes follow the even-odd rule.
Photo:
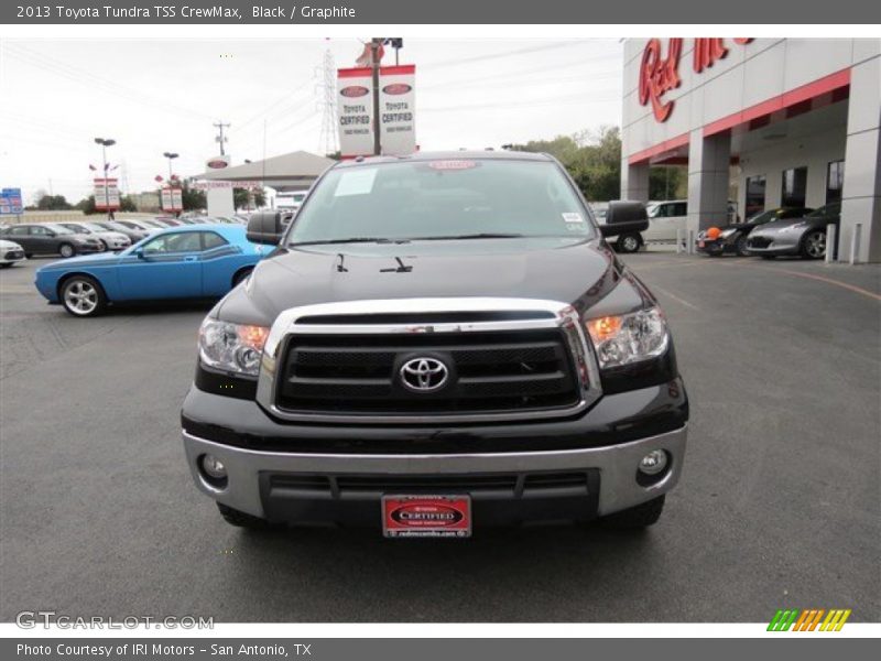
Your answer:
[[[388,538],[471,537],[471,498],[383,496],[382,533]]]

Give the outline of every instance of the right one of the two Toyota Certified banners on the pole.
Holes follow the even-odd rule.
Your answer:
[[[379,119],[382,153],[392,156],[416,151],[416,66],[379,69]]]

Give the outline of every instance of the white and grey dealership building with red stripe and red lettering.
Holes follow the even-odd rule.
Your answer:
[[[881,261],[881,40],[650,39],[624,46],[621,195],[687,166],[689,232],[841,203],[838,260]]]

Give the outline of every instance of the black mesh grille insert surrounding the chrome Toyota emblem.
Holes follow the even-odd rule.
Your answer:
[[[436,392],[414,392],[402,383],[403,364],[424,356],[449,370]],[[292,335],[279,379],[279,408],[297,413],[482,413],[578,401],[558,329]]]

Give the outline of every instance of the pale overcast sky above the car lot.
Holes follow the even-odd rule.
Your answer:
[[[367,37],[366,37],[367,39]],[[324,151],[323,65],[360,55],[356,39],[13,40],[0,42],[0,187],[76,203],[90,193],[95,138],[124,193],[205,171],[218,121],[232,164]],[[620,124],[618,40],[406,39],[416,65],[416,142],[423,151],[499,149]],[[383,64],[394,61],[391,50]],[[335,82],[334,82],[335,84]],[[336,124],[333,124],[334,128]]]

